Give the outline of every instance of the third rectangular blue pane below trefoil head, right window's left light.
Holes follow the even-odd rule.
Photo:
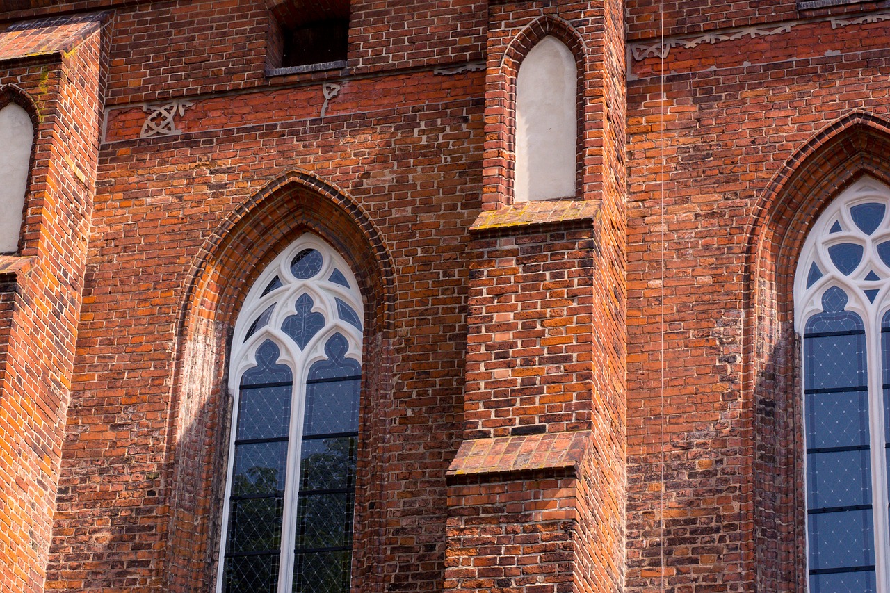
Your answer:
[[[806,507],[834,508],[871,504],[868,449],[810,453],[806,456]]]

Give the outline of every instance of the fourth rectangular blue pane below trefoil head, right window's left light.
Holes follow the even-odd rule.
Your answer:
[[[871,509],[808,517],[810,570],[875,564]]]

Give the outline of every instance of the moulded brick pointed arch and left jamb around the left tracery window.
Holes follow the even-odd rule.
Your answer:
[[[221,526],[211,519],[222,506],[224,476],[213,467],[219,466],[219,443],[228,439],[219,405],[226,394],[227,341],[256,277],[303,232],[327,240],[351,265],[366,299],[366,339],[385,340],[392,333],[392,257],[376,225],[346,192],[310,173],[290,172],[266,184],[219,224],[191,266],[176,328],[174,393],[166,428],[171,514],[166,590],[197,590],[196,582],[204,583],[205,590],[214,581]]]

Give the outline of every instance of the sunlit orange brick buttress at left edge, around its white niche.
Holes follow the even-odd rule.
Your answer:
[[[4,290],[0,377],[4,593],[44,586],[93,207],[101,33],[98,22],[83,22],[67,34],[69,53],[22,61],[8,54],[18,43],[9,32],[0,42],[6,53],[0,84],[14,85],[4,88],[3,102],[24,104],[36,122],[20,255],[4,257],[4,278],[12,282]]]

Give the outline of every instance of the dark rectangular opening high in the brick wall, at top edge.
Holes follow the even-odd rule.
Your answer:
[[[286,0],[272,8],[278,27],[272,68],[341,68],[349,45],[349,2]]]

